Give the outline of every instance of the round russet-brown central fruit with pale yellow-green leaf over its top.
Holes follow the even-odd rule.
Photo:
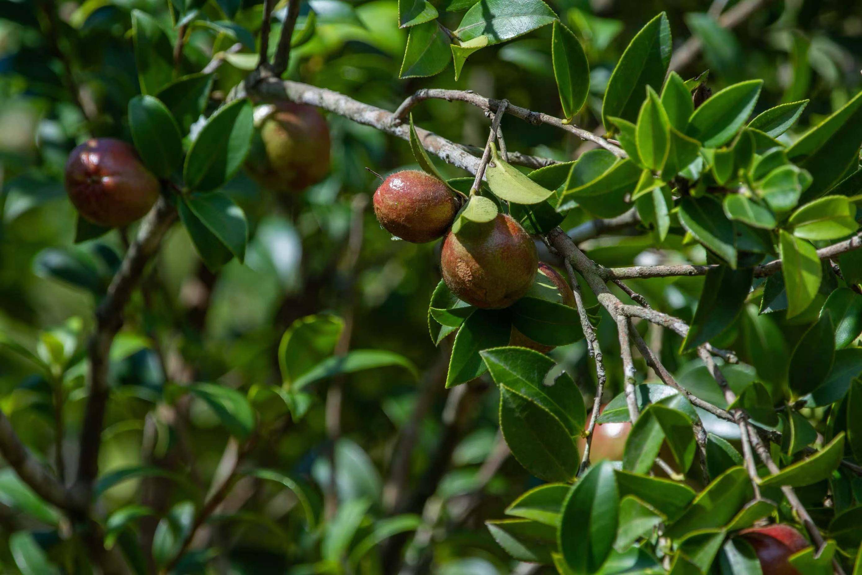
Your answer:
[[[497,214],[491,222],[450,232],[443,242],[440,268],[449,289],[477,308],[501,309],[533,285],[539,256],[521,224]]]

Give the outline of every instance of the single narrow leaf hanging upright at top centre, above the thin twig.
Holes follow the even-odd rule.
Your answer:
[[[590,93],[590,63],[575,34],[556,20],[551,36],[551,57],[563,116],[572,120]]]

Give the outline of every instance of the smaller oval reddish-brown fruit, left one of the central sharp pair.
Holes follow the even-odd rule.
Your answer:
[[[458,213],[459,199],[440,178],[402,170],[374,192],[374,215],[390,234],[422,244],[446,234]]]

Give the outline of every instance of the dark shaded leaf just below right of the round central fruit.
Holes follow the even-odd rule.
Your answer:
[[[525,296],[509,309],[512,326],[544,346],[565,346],[584,337],[578,310],[564,303]]]

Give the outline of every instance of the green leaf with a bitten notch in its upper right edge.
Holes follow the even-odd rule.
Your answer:
[[[498,385],[547,410],[569,434],[584,430],[584,398],[569,374],[552,372],[556,366],[553,359],[523,347],[497,347],[480,355]]]

